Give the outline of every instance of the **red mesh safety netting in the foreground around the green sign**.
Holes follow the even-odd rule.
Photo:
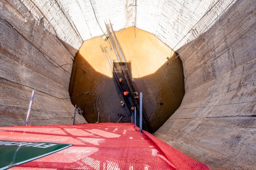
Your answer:
[[[0,140],[73,144],[12,167],[80,170],[209,170],[131,123],[0,127]]]

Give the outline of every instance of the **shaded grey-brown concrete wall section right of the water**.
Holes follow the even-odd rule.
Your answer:
[[[256,4],[239,0],[177,52],[185,96],[155,136],[212,170],[254,170]]]

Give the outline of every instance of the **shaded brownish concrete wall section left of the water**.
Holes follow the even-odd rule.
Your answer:
[[[59,40],[23,3],[0,3],[1,126],[24,125],[32,90],[29,125],[72,124],[68,93],[77,49]],[[80,115],[76,123],[86,122]]]

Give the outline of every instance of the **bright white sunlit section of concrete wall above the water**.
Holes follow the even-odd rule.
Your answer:
[[[12,0],[9,0],[12,2]],[[131,26],[156,35],[177,50],[207,30],[236,0],[22,0],[27,15],[74,48],[81,40],[106,33],[105,23],[115,31]],[[20,8],[21,9],[21,8]],[[208,27],[209,26],[209,27]]]

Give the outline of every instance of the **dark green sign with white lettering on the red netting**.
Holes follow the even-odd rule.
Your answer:
[[[0,170],[33,161],[70,146],[72,144],[0,141]]]

